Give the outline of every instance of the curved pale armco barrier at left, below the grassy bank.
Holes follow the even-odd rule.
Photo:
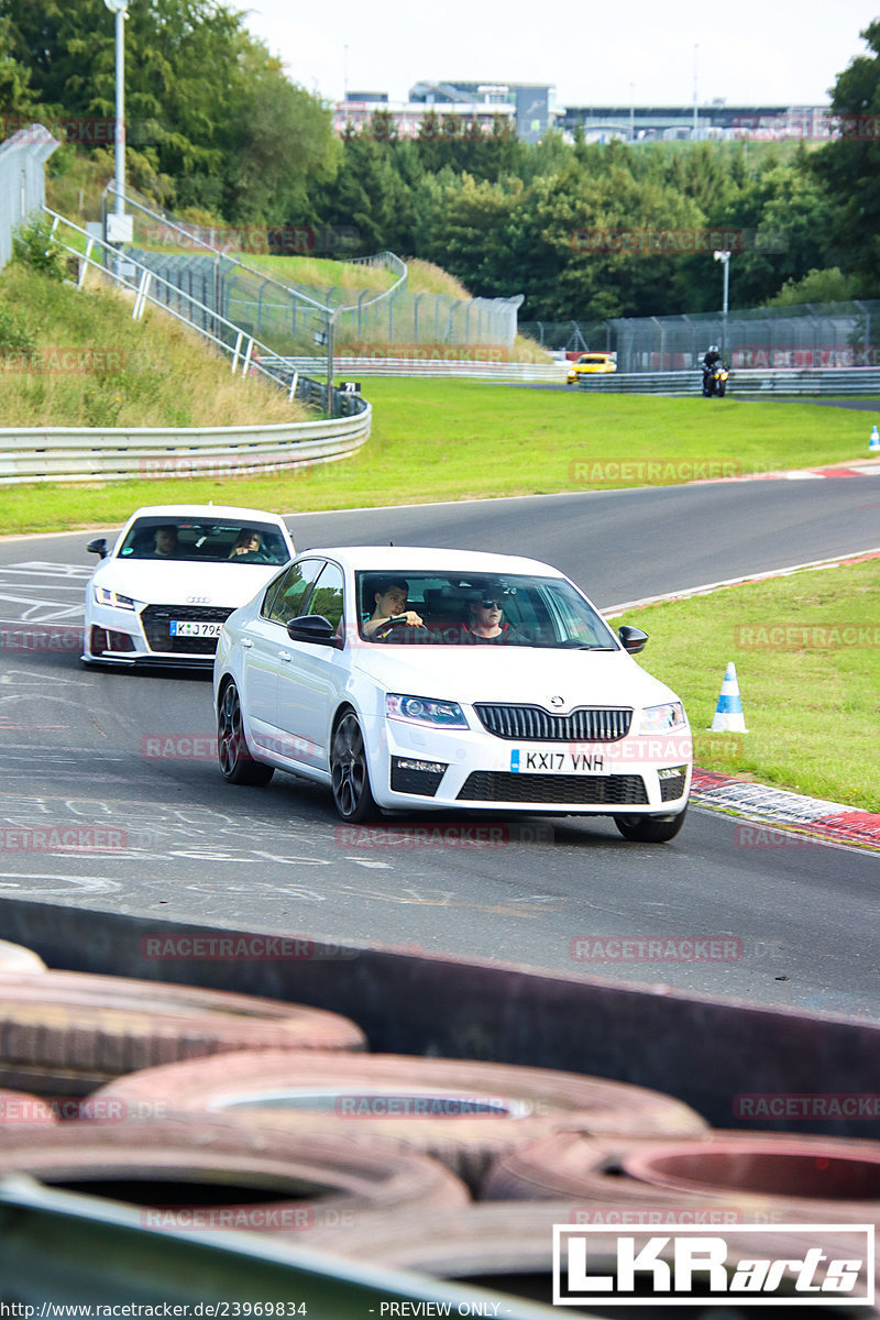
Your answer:
[[[346,458],[369,438],[372,408],[332,421],[269,426],[34,426],[0,429],[0,484],[264,475]]]

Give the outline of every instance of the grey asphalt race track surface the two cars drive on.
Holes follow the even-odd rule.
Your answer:
[[[879,508],[876,478],[856,477],[309,513],[290,525],[301,549],[388,539],[528,548],[608,607],[859,553],[880,544]],[[0,541],[0,626],[73,636],[95,562],[87,540]],[[741,846],[730,816],[699,807],[660,847],[573,817],[493,820],[488,846],[468,834],[474,820],[453,817],[356,834],[326,792],[292,776],[265,789],[222,781],[207,677],[84,671],[78,655],[73,643],[0,651],[0,895],[880,1020],[876,854]],[[650,669],[650,645],[644,660]],[[695,723],[710,715],[691,711]],[[70,828],[91,850],[58,849],[53,830]],[[573,941],[599,936],[727,944],[702,962],[582,961]]]

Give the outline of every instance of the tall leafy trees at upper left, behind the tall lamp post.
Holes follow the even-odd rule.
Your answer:
[[[0,87],[5,114],[65,116],[74,140],[77,121],[112,121],[115,18],[103,0],[0,0]],[[330,112],[216,0],[131,0],[125,121],[137,187],[236,222],[301,213],[339,154]]]

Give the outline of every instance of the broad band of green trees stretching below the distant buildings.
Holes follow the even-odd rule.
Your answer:
[[[475,296],[525,294],[524,319],[716,310],[718,238],[732,309],[877,290],[880,21],[836,79],[842,135],[818,149],[528,145],[500,116],[487,132],[438,112],[401,139],[383,111],[339,140],[243,24],[216,0],[129,3],[129,177],[189,219],[354,227],[363,252],[437,261]],[[112,120],[113,95],[103,0],[0,0],[7,117]]]

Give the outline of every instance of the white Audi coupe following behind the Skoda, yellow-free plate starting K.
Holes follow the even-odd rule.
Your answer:
[[[139,508],[90,541],[83,661],[210,668],[227,616],[296,554],[274,513],[219,504]]]

